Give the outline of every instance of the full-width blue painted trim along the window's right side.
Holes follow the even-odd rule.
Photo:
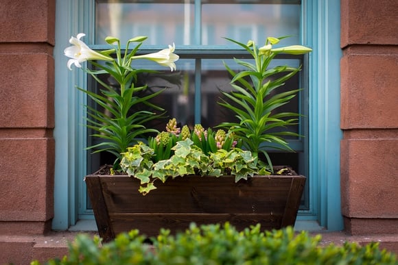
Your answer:
[[[314,214],[343,229],[340,206],[340,1],[303,1],[309,55],[309,181]]]

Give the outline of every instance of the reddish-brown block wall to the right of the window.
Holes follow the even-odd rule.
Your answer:
[[[341,1],[345,229],[398,233],[398,1]]]

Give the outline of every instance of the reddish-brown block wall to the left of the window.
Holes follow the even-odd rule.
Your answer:
[[[1,0],[0,25],[0,236],[43,235],[54,212],[55,0]],[[21,259],[24,246],[1,252]]]

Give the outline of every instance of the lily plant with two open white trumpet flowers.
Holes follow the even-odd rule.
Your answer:
[[[67,67],[71,70],[74,64],[82,68],[91,75],[97,84],[100,85],[100,93],[92,92],[84,88],[78,90],[86,93],[101,109],[96,109],[86,105],[88,110],[87,127],[93,129],[93,136],[102,139],[102,142],[87,149],[93,149],[93,153],[107,151],[115,155],[114,168],[119,168],[121,153],[137,142],[137,138],[142,138],[150,132],[157,132],[155,129],[145,127],[148,121],[159,118],[164,112],[163,108],[150,103],[150,99],[156,97],[163,90],[139,97],[137,92],[141,92],[147,86],[136,86],[137,75],[139,73],[151,73],[153,71],[132,66],[133,60],[151,60],[167,66],[171,71],[176,70],[175,62],[178,55],[174,54],[175,46],[169,45],[156,53],[136,55],[139,47],[147,39],[146,36],[137,36],[128,40],[126,48],[122,50],[120,40],[115,37],[106,37],[106,42],[112,49],[106,51],[93,51],[86,43],[80,40],[85,34],[80,33],[71,37],[69,42],[71,47],[65,49],[65,55],[70,58]],[[130,45],[134,47],[130,49]],[[83,67],[83,62],[90,62],[93,68]],[[117,82],[117,86],[106,84],[102,75],[109,75]],[[145,110],[133,110],[137,104],[144,104]]]

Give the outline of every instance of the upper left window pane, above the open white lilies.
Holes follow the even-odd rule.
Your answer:
[[[194,5],[185,1],[154,2],[97,1],[95,43],[104,44],[106,36],[114,36],[123,45],[132,37],[148,36],[145,45],[168,45],[173,42],[178,45],[191,44],[194,36]]]

